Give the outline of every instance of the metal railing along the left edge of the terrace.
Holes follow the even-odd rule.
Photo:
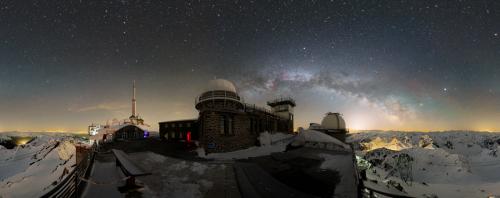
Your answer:
[[[41,197],[79,197],[86,185],[85,182],[82,182],[81,178],[89,176],[96,150],[97,145],[93,144],[83,159],[80,161],[77,160],[77,166],[56,187]]]

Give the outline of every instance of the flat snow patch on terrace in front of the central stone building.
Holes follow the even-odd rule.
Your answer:
[[[218,197],[214,196],[218,190],[231,190],[224,188],[237,192],[234,176],[227,175],[232,173],[231,164],[185,161],[151,152],[129,156],[138,160],[141,167],[153,171],[153,175],[139,178],[148,186],[149,192],[145,194],[153,197]]]

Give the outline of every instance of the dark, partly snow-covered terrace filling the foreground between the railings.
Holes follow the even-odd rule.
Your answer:
[[[281,179],[274,178],[275,174],[279,173],[268,170],[264,167],[264,164],[259,164],[258,162],[268,160],[268,163],[265,164],[281,164],[279,166],[286,167],[287,164],[289,164],[289,160],[272,160],[271,156],[281,153],[280,159],[310,158],[306,160],[306,162],[314,161],[314,163],[306,163],[305,165],[312,165],[311,168],[316,170],[318,175],[325,175],[327,172],[344,175],[342,178],[346,178],[346,180],[341,179],[344,186],[334,184],[335,181],[331,180],[331,178],[324,178],[322,180],[322,182],[324,182],[323,185],[328,186],[328,188],[327,190],[321,190],[321,192],[332,193],[333,190],[331,189],[337,185],[337,193],[343,193],[343,195],[345,195],[343,197],[354,197],[350,196],[356,193],[356,176],[354,175],[355,171],[353,171],[353,158],[348,154],[349,152],[346,150],[346,145],[337,142],[338,140],[332,140],[330,136],[323,135],[322,133],[316,134],[314,132],[303,133],[298,136],[264,132],[261,133],[259,137],[261,143],[259,147],[251,147],[229,153],[211,153],[209,155],[204,155],[202,150],[198,150],[199,157],[205,160],[195,161],[193,161],[192,158],[181,159],[151,151],[137,152],[136,149],[131,149],[129,151],[135,150],[135,152],[128,152],[130,160],[136,162],[136,165],[140,168],[152,172],[152,174],[137,177],[137,183],[143,185],[144,188],[136,192],[129,192],[128,194],[143,197],[248,196],[248,194],[241,191],[243,188],[254,189],[261,195],[279,195],[283,192],[290,191],[292,188],[285,187],[289,185],[285,185],[286,179],[283,180],[285,177],[281,177]],[[308,148],[307,152],[299,148],[293,152],[283,152],[291,142],[297,145],[307,145],[312,141],[321,143],[321,145],[340,143],[340,146],[337,147],[340,151],[318,153],[318,148]],[[127,144],[135,148],[133,142],[128,142]],[[248,168],[248,166],[245,167],[242,164],[235,164],[235,162],[238,163],[240,160],[255,165]],[[346,163],[334,163],[334,161],[337,160],[345,161]],[[110,197],[122,195],[117,189],[124,184],[126,176],[120,168],[116,167],[115,163],[114,156],[111,153],[101,153],[96,157],[93,172],[88,179],[89,185],[83,193],[83,197],[95,197],[102,194]],[[295,165],[292,164],[290,168],[294,166]],[[299,168],[300,166],[302,165],[299,165]],[[235,172],[238,167],[240,167],[239,174]],[[284,171],[283,173],[293,177],[293,172],[296,170],[295,168],[286,168],[279,171]],[[252,177],[247,178],[245,175],[252,175]],[[244,178],[244,181],[247,181],[244,182],[245,184],[241,184],[241,182],[238,181],[242,178]],[[299,178],[294,180],[300,181]],[[273,190],[267,191],[266,188],[263,188],[263,186],[259,184],[261,182],[275,187],[273,187]],[[332,185],[329,185],[329,183],[332,183]],[[321,184],[321,182],[317,184]],[[344,190],[342,191],[340,189]]]

